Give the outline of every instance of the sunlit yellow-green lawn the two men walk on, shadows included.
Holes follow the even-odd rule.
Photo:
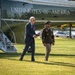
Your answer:
[[[0,75],[75,75],[75,39],[56,38],[48,62],[44,61],[45,47],[41,39],[35,41],[35,62],[30,61],[29,53],[19,61],[23,44],[15,45],[15,54],[0,51]]]

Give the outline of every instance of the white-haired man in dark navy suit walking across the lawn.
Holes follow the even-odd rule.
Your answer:
[[[21,54],[20,60],[23,60],[24,55],[29,47],[31,47],[31,61],[35,61],[34,54],[35,54],[35,39],[38,35],[35,33],[35,17],[30,17],[29,23],[26,24],[25,28],[25,48],[23,53]]]

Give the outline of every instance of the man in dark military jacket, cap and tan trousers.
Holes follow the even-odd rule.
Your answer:
[[[43,42],[43,45],[46,47],[45,61],[48,61],[49,53],[51,51],[51,44],[54,45],[54,42],[55,42],[50,21],[47,21],[45,23],[45,27],[43,28],[42,42]]]

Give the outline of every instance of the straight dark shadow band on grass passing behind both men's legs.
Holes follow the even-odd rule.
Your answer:
[[[0,58],[6,58],[6,57],[18,57],[20,56],[21,53],[0,53]],[[26,53],[26,55],[31,55],[31,53]],[[45,56],[44,53],[35,53],[35,56]],[[65,57],[74,57],[75,55],[74,54],[50,54],[50,56],[56,56],[56,57],[62,57],[62,56],[65,56]]]

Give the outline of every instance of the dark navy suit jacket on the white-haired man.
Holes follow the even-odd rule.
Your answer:
[[[35,26],[31,25],[31,23],[26,24],[25,28],[25,43],[31,43],[34,41],[33,35],[35,35]]]

